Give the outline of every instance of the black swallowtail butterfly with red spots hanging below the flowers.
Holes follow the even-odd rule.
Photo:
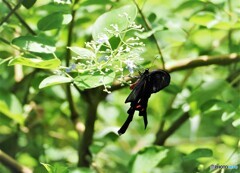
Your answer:
[[[135,110],[139,111],[139,116],[143,117],[145,129],[148,124],[147,120],[147,104],[151,94],[156,93],[163,88],[167,87],[170,83],[171,77],[168,72],[164,70],[156,70],[149,72],[148,69],[144,73],[140,74],[138,79],[133,85],[131,85],[132,92],[127,97],[125,103],[130,102],[130,108],[128,109],[128,118],[118,130],[118,134],[124,134],[128,128],[128,125],[133,119]]]

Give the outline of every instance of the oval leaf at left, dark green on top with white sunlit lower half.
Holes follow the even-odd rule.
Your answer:
[[[54,43],[43,37],[37,36],[20,36],[12,40],[12,44],[30,51],[30,52],[37,52],[37,53],[54,53],[56,47]]]

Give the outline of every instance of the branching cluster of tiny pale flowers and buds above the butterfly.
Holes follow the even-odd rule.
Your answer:
[[[114,71],[118,80],[124,83],[124,77],[131,75],[142,61],[140,54],[144,51],[144,44],[133,32],[142,32],[141,25],[128,19],[127,14],[120,15],[126,17],[128,27],[122,30],[117,24],[111,24],[109,28],[104,28],[102,34],[97,39],[85,43],[84,52],[74,57],[73,66],[67,68],[67,72],[75,70],[79,73],[88,71],[91,74],[100,72],[101,75],[107,75],[108,71]],[[112,39],[113,38],[113,39]],[[117,40],[117,41],[116,41]],[[117,46],[116,46],[117,44]],[[104,80],[101,83],[105,91],[109,85],[105,85]]]

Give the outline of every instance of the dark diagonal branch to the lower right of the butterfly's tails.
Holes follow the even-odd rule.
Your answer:
[[[171,136],[179,127],[188,120],[189,118],[188,112],[182,114],[171,126],[168,130],[162,133],[157,133],[157,138],[154,142],[156,145],[164,145],[166,139]]]

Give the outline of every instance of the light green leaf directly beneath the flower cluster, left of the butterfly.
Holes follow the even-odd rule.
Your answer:
[[[83,73],[74,79],[74,83],[80,89],[89,89],[96,88],[101,85],[107,85],[113,82],[115,78],[115,72],[109,70],[105,72],[105,74],[101,74],[100,72],[95,72],[94,74]]]

